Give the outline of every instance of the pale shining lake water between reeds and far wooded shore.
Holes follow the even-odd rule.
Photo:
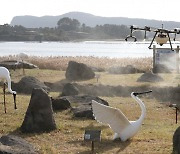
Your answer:
[[[1,42],[0,56],[25,53],[29,56],[95,56],[109,58],[152,57],[150,42]]]

